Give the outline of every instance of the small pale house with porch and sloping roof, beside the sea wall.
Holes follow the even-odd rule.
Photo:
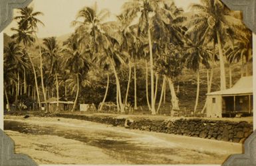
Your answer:
[[[231,89],[208,93],[207,117],[235,117],[253,114],[253,77],[242,77]]]

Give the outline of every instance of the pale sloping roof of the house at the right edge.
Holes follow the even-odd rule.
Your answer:
[[[253,94],[253,76],[242,77],[231,89],[207,93],[206,95],[243,95]]]

